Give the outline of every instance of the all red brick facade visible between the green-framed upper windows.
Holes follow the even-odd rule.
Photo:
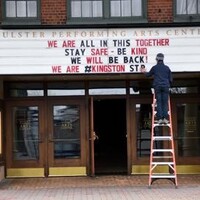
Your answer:
[[[0,12],[2,7],[0,1]],[[148,0],[147,20],[149,23],[172,23],[173,0]],[[2,21],[0,14],[0,22]],[[64,25],[67,22],[66,0],[41,0],[41,24]]]

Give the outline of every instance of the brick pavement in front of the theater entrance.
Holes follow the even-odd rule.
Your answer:
[[[178,175],[178,187],[147,175],[5,179],[0,200],[199,200],[200,175]]]

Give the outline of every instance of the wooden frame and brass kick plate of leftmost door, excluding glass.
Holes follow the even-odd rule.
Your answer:
[[[14,160],[13,155],[13,131],[12,131],[12,124],[13,124],[13,117],[12,117],[12,108],[17,106],[38,106],[39,110],[39,123],[38,123],[38,135],[39,135],[39,160]],[[46,159],[44,157],[44,153],[41,152],[45,151],[44,147],[44,128],[45,124],[42,123],[42,118],[44,118],[45,110],[42,109],[44,106],[44,102],[41,100],[28,100],[28,101],[17,101],[11,100],[5,103],[5,135],[6,135],[6,177],[17,177],[18,175],[22,177],[44,177],[45,176],[45,163]]]

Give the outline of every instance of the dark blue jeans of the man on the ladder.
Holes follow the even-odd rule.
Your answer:
[[[157,118],[168,119],[168,98],[169,98],[169,87],[157,86],[155,89],[155,97],[157,102]]]

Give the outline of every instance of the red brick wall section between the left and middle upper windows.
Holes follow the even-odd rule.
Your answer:
[[[66,0],[42,0],[41,4],[43,25],[66,24]]]

